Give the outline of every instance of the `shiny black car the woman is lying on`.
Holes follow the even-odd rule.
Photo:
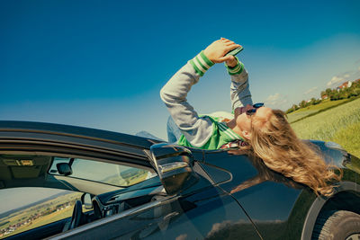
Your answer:
[[[312,143],[344,170],[330,198],[228,150],[0,121],[0,237],[359,239],[360,160]]]

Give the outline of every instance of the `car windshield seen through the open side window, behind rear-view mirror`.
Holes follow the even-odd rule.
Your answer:
[[[133,167],[125,164],[111,164],[81,158],[53,157],[53,162],[49,168],[50,174],[58,173],[58,164],[69,164],[72,173],[68,177],[102,182],[119,187],[128,187],[148,178],[155,176],[154,172],[147,169]]]

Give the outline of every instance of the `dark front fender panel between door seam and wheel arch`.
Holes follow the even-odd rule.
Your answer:
[[[238,200],[265,239],[301,236],[303,223],[297,220],[306,215],[306,209],[293,208],[302,185],[268,169],[262,161],[226,150],[205,151],[202,165],[209,174],[220,170],[229,173],[218,180],[220,188]],[[306,192],[302,200],[312,200]]]

